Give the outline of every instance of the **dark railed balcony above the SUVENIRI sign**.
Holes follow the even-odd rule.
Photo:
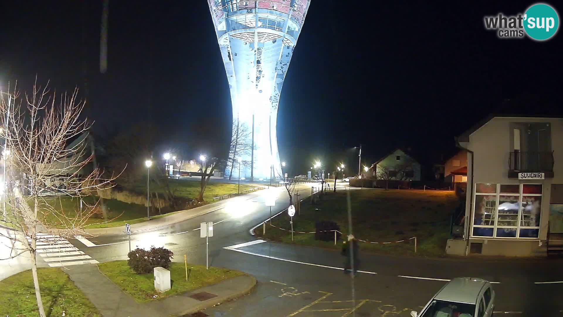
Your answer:
[[[511,152],[508,157],[508,177],[518,173],[544,173],[553,178],[553,152]]]

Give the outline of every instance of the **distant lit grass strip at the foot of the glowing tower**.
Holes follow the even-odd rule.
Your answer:
[[[170,190],[178,197],[196,199],[199,195],[201,177],[194,176],[192,178],[193,179],[189,180],[173,178],[169,179],[168,181],[170,184]],[[142,180],[139,180],[138,182],[130,185],[123,185],[123,187],[134,192],[145,193],[146,195],[146,179],[144,182]],[[213,182],[213,180],[210,180],[207,184],[207,187],[205,187],[205,191],[203,192],[203,200],[209,202],[213,201],[213,197],[238,192],[238,187],[238,184]],[[242,192],[254,187],[255,186],[249,186],[247,184],[240,184],[240,191]],[[164,192],[164,189],[158,186],[158,184],[155,182],[150,183],[150,190],[157,191],[159,193]]]

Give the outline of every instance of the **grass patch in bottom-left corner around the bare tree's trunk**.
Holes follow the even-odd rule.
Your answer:
[[[37,274],[47,317],[102,316],[60,268],[38,268]],[[0,289],[0,316],[38,316],[31,270],[1,280]]]

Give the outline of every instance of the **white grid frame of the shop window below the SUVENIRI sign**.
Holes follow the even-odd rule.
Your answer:
[[[522,197],[523,196],[539,196],[542,197],[543,196],[543,184],[541,183],[496,183],[496,193],[479,193],[477,192],[477,184],[480,183],[474,183],[473,184],[473,207],[472,207],[472,217],[471,217],[471,237],[475,237],[475,238],[479,238],[479,239],[522,239],[522,240],[539,240],[539,234],[540,234],[540,226],[530,226],[530,227],[526,227],[526,226],[521,226],[522,223],[522,216],[524,213],[524,210],[522,210]],[[487,183],[485,183],[487,184]],[[492,184],[492,183],[491,183]],[[501,193],[501,185],[518,185],[519,186],[519,193]],[[542,193],[538,194],[538,193],[524,193],[524,185],[540,185],[542,186]],[[498,217],[499,217],[499,213],[498,213],[498,208],[499,208],[499,203],[500,203],[500,197],[502,196],[515,196],[518,197],[518,214],[517,214],[517,220],[516,220],[516,225],[515,226],[500,226],[498,224]],[[494,225],[491,226],[489,225],[485,225],[485,224],[475,224],[475,209],[476,209],[476,200],[477,200],[477,196],[496,196],[496,206],[495,206],[495,210],[494,210]],[[543,205],[543,199],[542,199],[542,205]],[[540,205],[540,221],[542,218],[542,212],[541,212],[541,208],[542,205]],[[502,221],[502,220],[501,220]],[[493,235],[492,236],[477,236],[477,235],[473,235],[473,228],[493,228]],[[515,237],[498,237],[497,236],[497,231],[499,228],[507,228],[507,229],[516,229],[516,236]],[[524,229],[538,229],[538,236],[537,237],[520,237],[520,229],[524,228]]]

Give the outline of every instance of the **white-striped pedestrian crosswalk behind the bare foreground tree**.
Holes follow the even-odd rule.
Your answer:
[[[36,249],[51,267],[100,263],[59,235],[37,234]]]

